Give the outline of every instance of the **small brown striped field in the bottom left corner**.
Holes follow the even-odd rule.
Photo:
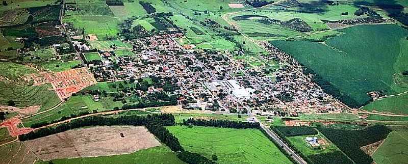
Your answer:
[[[34,163],[35,155],[21,142],[0,147],[0,163]]]

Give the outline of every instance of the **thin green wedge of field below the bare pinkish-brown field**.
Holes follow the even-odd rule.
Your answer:
[[[131,154],[121,154],[112,156],[86,157],[74,159],[55,159],[53,163],[69,164],[69,163],[184,163],[177,158],[167,146],[152,147],[144,150],[139,150]],[[36,164],[49,163],[38,161]]]

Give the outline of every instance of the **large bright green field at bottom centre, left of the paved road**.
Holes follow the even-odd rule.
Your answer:
[[[258,129],[193,126],[167,127],[187,151],[217,163],[290,163],[290,160]],[[256,141],[256,142],[254,142]]]

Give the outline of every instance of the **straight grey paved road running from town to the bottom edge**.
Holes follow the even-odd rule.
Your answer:
[[[279,139],[279,137],[277,136],[277,134],[275,134],[272,130],[270,130],[269,128],[267,128],[266,126],[264,126],[261,121],[258,120],[257,117],[255,117],[254,115],[252,115],[252,113],[250,112],[250,110],[248,110],[249,113],[249,117],[253,117],[255,119],[255,122],[259,122],[261,125],[261,128],[264,129],[266,131],[266,133],[268,133],[269,136],[271,136],[271,138],[273,140],[275,140],[275,142],[277,142],[279,145],[283,146],[284,150],[291,154],[292,158],[295,159],[298,163],[300,164],[307,164],[306,161],[304,161],[298,154],[296,154],[288,145],[286,145],[281,139]]]

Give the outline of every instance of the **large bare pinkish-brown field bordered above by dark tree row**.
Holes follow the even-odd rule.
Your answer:
[[[120,133],[123,133],[123,138]],[[126,154],[161,145],[143,126],[74,129],[26,141],[24,144],[44,161]]]

